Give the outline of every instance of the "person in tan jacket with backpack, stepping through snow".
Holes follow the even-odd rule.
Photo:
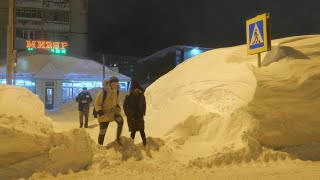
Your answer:
[[[111,77],[110,80],[104,80],[102,86],[103,89],[99,91],[94,104],[94,108],[98,113],[100,126],[98,143],[100,145],[103,144],[109,122],[114,120],[118,124],[116,140],[121,144],[120,135],[122,132],[123,118],[120,115],[121,108],[118,105],[119,80],[117,77]]]

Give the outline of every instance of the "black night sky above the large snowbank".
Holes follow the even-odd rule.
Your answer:
[[[245,44],[269,12],[272,38],[320,33],[320,0],[89,0],[89,51],[144,57],[171,45]]]

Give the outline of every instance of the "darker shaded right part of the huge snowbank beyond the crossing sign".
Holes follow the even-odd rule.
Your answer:
[[[319,141],[319,40],[289,41],[283,45],[291,54],[254,70],[258,87],[248,112],[259,122],[254,133],[261,144],[284,148]]]

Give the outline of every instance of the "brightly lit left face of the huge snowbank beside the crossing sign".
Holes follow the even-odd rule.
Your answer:
[[[228,62],[230,57],[239,59],[233,54],[238,51],[236,47],[205,52],[147,89],[147,129],[156,128],[151,136],[172,141],[178,160],[246,147],[242,136],[251,128],[250,119],[231,117],[253,98],[256,79],[248,64]]]

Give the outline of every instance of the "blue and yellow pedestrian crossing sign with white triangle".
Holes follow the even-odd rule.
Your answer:
[[[247,52],[257,54],[271,49],[270,20],[265,13],[246,22]]]

